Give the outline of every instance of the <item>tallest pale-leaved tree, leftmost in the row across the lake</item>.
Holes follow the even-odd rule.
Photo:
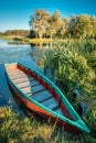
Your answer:
[[[51,15],[49,12],[38,9],[34,14],[30,16],[30,28],[34,31],[35,37],[42,38],[46,34],[46,29],[50,26],[49,21]]]

